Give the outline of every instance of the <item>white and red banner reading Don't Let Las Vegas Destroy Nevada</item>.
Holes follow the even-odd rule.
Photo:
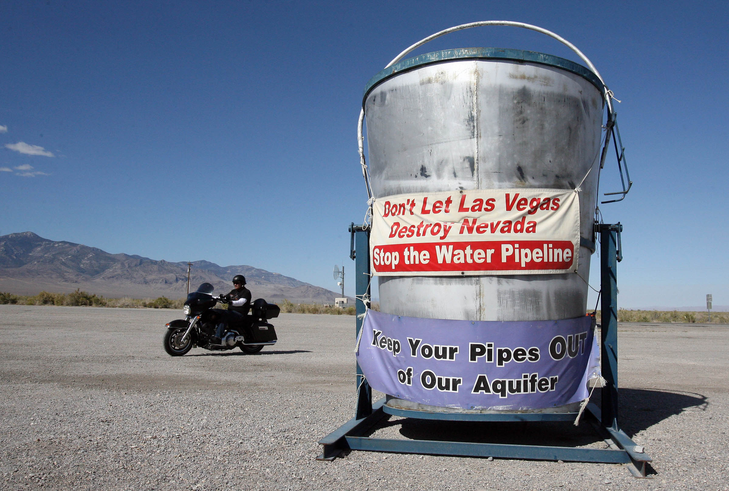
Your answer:
[[[580,200],[564,189],[473,189],[373,204],[378,276],[524,275],[577,270]]]

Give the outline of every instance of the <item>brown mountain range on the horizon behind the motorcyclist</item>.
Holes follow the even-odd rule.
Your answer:
[[[246,277],[253,298],[269,302],[332,303],[340,294],[256,267],[219,266],[192,262],[190,291],[212,283],[215,293],[227,293],[234,275]],[[44,239],[33,232],[0,236],[0,291],[34,295],[39,291],[82,291],[111,298],[182,298],[187,293],[187,263],[155,261],[129,254],[109,254],[99,248]]]

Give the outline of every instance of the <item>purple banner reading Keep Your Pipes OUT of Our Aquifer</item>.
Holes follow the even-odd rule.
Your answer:
[[[375,390],[461,409],[545,409],[582,401],[599,376],[590,316],[450,321],[367,310],[357,361]]]

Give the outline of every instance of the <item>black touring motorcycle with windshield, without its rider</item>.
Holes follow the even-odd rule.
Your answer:
[[[276,329],[268,323],[278,317],[281,309],[264,299],[251,304],[251,311],[242,321],[230,320],[227,310],[214,308],[217,302],[227,302],[222,296],[213,296],[214,286],[203,283],[187,295],[182,312],[184,319],[176,319],[165,324],[167,331],[163,336],[163,346],[169,356],[183,356],[193,347],[211,351],[233,350],[236,346],[243,353],[258,353],[264,346],[275,345]],[[218,324],[227,319],[227,331],[220,343],[213,343]]]

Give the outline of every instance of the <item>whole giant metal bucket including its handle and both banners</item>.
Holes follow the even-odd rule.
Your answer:
[[[357,359],[388,406],[573,412],[598,376],[585,311],[607,89],[572,49],[592,69],[468,48],[401,55],[367,84],[381,313]]]

